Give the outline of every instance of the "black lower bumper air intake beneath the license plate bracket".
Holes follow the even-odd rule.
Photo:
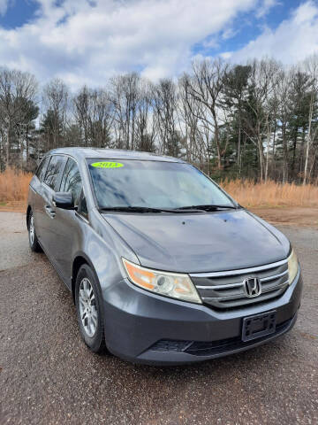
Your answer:
[[[281,334],[284,330],[290,328],[294,317],[288,321],[284,321],[279,325],[276,325],[276,330],[274,334],[268,336],[262,336],[260,338],[255,338],[254,340],[244,342],[242,341],[241,336],[234,336],[232,338],[220,339],[218,341],[170,341],[170,340],[160,340],[150,348],[154,352],[187,352],[193,356],[212,356],[217,354],[222,354],[226,352],[232,352],[234,350],[239,350],[240,348],[248,347],[259,343],[261,341],[266,341],[273,336]]]

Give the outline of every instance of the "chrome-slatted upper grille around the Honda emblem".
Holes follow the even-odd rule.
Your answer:
[[[247,277],[258,277],[261,281],[259,296],[247,297],[243,282]],[[191,279],[204,304],[217,309],[239,308],[283,295],[289,284],[288,263],[285,259],[262,267],[191,274]]]

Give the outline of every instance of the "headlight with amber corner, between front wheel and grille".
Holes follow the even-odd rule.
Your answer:
[[[165,297],[202,304],[193,282],[187,274],[159,272],[140,267],[123,259],[129,279],[140,288],[150,290]]]

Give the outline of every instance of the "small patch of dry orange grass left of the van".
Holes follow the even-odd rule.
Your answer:
[[[10,201],[27,202],[28,184],[32,178],[31,173],[7,168],[0,174],[0,204]]]

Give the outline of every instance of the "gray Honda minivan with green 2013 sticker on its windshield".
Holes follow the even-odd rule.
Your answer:
[[[183,160],[50,151],[30,182],[27,228],[94,352],[189,363],[263,344],[296,321],[291,243]]]

